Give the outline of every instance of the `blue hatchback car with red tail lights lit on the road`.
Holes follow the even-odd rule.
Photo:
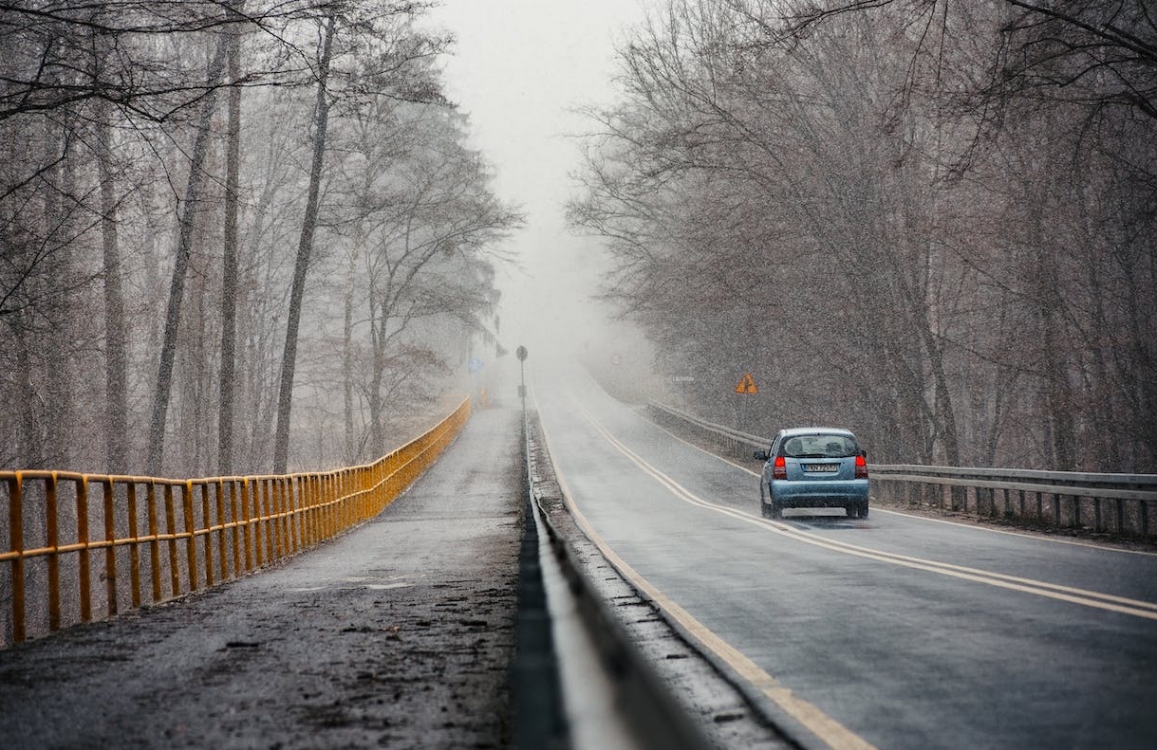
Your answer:
[[[849,519],[868,517],[868,453],[856,436],[834,427],[781,429],[764,461],[759,507],[765,519],[783,508],[845,508]]]

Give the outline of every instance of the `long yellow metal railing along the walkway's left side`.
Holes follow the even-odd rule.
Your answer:
[[[239,578],[367,521],[434,463],[469,418],[466,399],[376,462],[329,472],[207,479],[0,472],[0,499],[7,492],[0,544],[8,545],[0,547],[0,648]]]

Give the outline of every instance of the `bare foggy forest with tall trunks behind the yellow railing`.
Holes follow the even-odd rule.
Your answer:
[[[495,351],[523,219],[428,10],[0,3],[0,468],[361,463]]]

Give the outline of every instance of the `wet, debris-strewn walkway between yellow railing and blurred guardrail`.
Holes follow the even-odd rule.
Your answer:
[[[206,594],[0,650],[0,748],[500,748],[519,413],[375,521]]]

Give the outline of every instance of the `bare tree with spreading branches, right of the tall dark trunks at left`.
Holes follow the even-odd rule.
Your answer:
[[[388,407],[445,366],[445,343],[430,340],[434,318],[485,336],[481,317],[495,299],[484,249],[521,216],[491,193],[487,167],[462,144],[465,123],[450,105],[375,98],[341,119],[346,161],[334,190],[347,207],[334,219],[348,238],[342,361],[353,461],[385,450]],[[361,310],[356,300],[364,300]],[[358,328],[367,329],[367,345],[355,339]],[[368,412],[364,436],[355,434],[355,392]]]

